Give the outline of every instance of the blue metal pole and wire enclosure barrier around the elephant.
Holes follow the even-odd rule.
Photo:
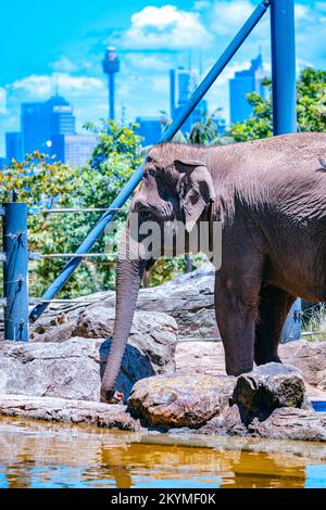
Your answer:
[[[296,54],[294,54],[294,0],[265,0],[261,2],[247,20],[242,28],[228,44],[188,102],[179,111],[176,118],[163,132],[159,143],[173,139],[184,122],[188,118],[204,94],[221,75],[231,58],[251,34],[259,21],[271,5],[271,40],[272,40],[272,80],[273,80],[273,123],[274,135],[294,132],[296,127]],[[111,206],[89,232],[74,254],[29,254],[29,259],[70,258],[54,282],[33,308],[29,320],[35,321],[53,302],[55,295],[70,279],[82,260],[86,257],[100,256],[90,254],[90,250],[104,232],[106,225],[114,218],[129,199],[142,178],[143,163],[129,181],[121,190]],[[18,212],[20,211],[20,212]],[[91,209],[85,209],[91,211]],[[102,212],[103,209],[92,209]],[[41,211],[42,212],[42,211]],[[80,212],[80,209],[48,209],[49,214]],[[4,265],[4,323],[8,340],[28,340],[28,293],[27,293],[27,207],[26,204],[3,204],[1,213],[4,217],[2,262]],[[34,209],[30,209],[35,214]],[[112,262],[114,264],[114,262]],[[285,327],[285,336],[293,340],[300,337],[300,299],[296,302]]]

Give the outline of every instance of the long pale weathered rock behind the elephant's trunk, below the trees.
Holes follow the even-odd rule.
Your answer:
[[[112,291],[80,297],[72,304],[53,304],[32,324],[32,340],[64,342],[73,336],[105,337],[112,332],[114,309],[115,293]],[[141,289],[137,309],[171,315],[183,339],[221,339],[214,313],[214,268],[211,264],[163,285]],[[104,318],[108,318],[106,322]]]

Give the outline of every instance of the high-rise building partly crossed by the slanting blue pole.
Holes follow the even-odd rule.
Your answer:
[[[199,85],[199,72],[178,67],[170,71],[170,109],[171,116],[175,118],[179,110],[187,103],[188,99]],[[183,132],[190,132],[193,124],[198,123],[206,111],[206,101],[202,100],[187,118],[181,127]]]

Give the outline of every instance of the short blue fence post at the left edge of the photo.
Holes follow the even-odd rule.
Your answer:
[[[4,203],[4,339],[28,342],[27,205]]]

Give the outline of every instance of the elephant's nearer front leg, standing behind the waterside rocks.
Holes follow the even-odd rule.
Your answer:
[[[216,273],[215,315],[228,375],[250,372],[253,368],[258,305],[258,285],[247,288],[243,283],[239,284],[239,280],[231,273]]]

